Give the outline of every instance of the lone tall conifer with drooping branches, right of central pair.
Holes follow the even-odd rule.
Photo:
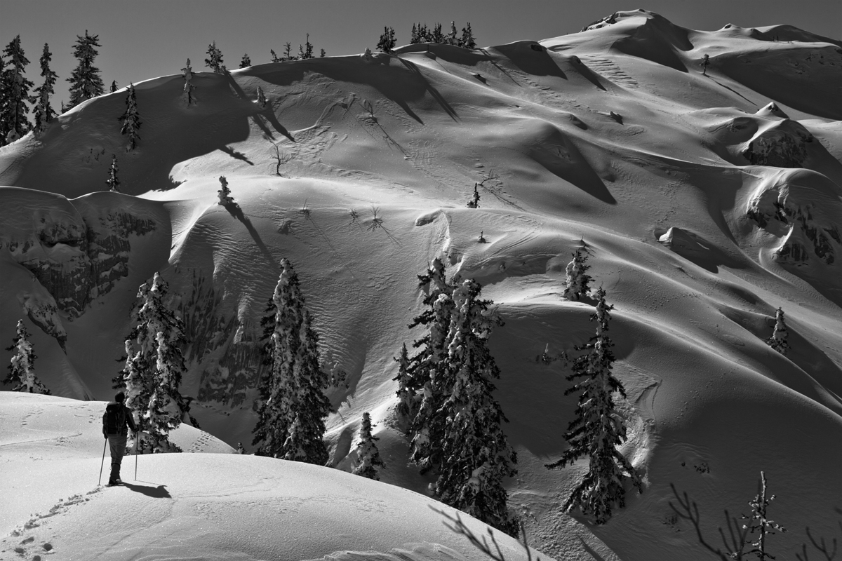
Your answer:
[[[623,480],[626,475],[638,492],[642,492],[640,475],[632,464],[617,450],[626,442],[626,425],[614,403],[614,393],[626,397],[623,384],[611,373],[614,353],[608,336],[609,312],[614,306],[605,303],[605,290],[596,291],[596,311],[590,316],[596,320],[596,335],[588,343],[577,346],[584,351],[573,362],[573,372],[568,380],[578,382],[564,392],[578,392],[576,417],[570,422],[564,440],[570,446],[562,458],[546,464],[547,468],[563,468],[578,458],[589,458],[588,473],[573,489],[562,511],[578,508],[584,516],[592,516],[597,524],[605,524],[614,504],[626,505]]]

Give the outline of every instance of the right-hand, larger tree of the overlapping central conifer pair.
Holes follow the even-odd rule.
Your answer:
[[[446,338],[445,400],[429,419],[431,434],[442,435],[435,495],[442,502],[516,536],[503,479],[517,473],[517,457],[503,431],[508,422],[493,398],[500,371],[488,352],[488,336],[502,325],[479,298],[482,287],[465,280],[453,290]],[[422,405],[423,406],[423,405]],[[441,428],[435,428],[440,425]]]

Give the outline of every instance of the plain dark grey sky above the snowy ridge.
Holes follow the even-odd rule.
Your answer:
[[[49,43],[59,74],[57,98],[67,100],[72,44],[85,29],[99,34],[95,65],[107,87],[112,80],[124,86],[177,74],[187,58],[196,71],[206,70],[212,40],[226,66],[237,68],[243,53],[258,64],[270,61],[269,49],[280,55],[287,41],[297,51],[306,33],[316,53],[323,48],[328,56],[349,55],[374,50],[385,25],[396,29],[397,45],[405,45],[413,22],[449,27],[454,20],[457,29],[471,22],[479,45],[500,45],[575,33],[595,19],[637,8],[691,29],[791,24],[842,38],[842,0],[0,0],[0,45],[20,34],[37,86],[38,59]]]

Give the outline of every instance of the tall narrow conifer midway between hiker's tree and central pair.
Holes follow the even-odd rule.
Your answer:
[[[258,454],[324,465],[322,440],[330,402],[328,375],[319,365],[318,337],[312,329],[298,275],[287,259],[269,299],[264,326],[268,371],[258,381],[260,400],[253,444]]]

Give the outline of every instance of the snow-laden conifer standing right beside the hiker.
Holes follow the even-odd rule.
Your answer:
[[[138,289],[132,318],[136,325],[125,340],[125,367],[114,380],[115,387],[125,385],[125,405],[140,415],[140,453],[180,452],[168,435],[189,415],[189,399],[179,392],[186,370],[184,322],[165,303],[167,290],[159,273],[152,284]]]

